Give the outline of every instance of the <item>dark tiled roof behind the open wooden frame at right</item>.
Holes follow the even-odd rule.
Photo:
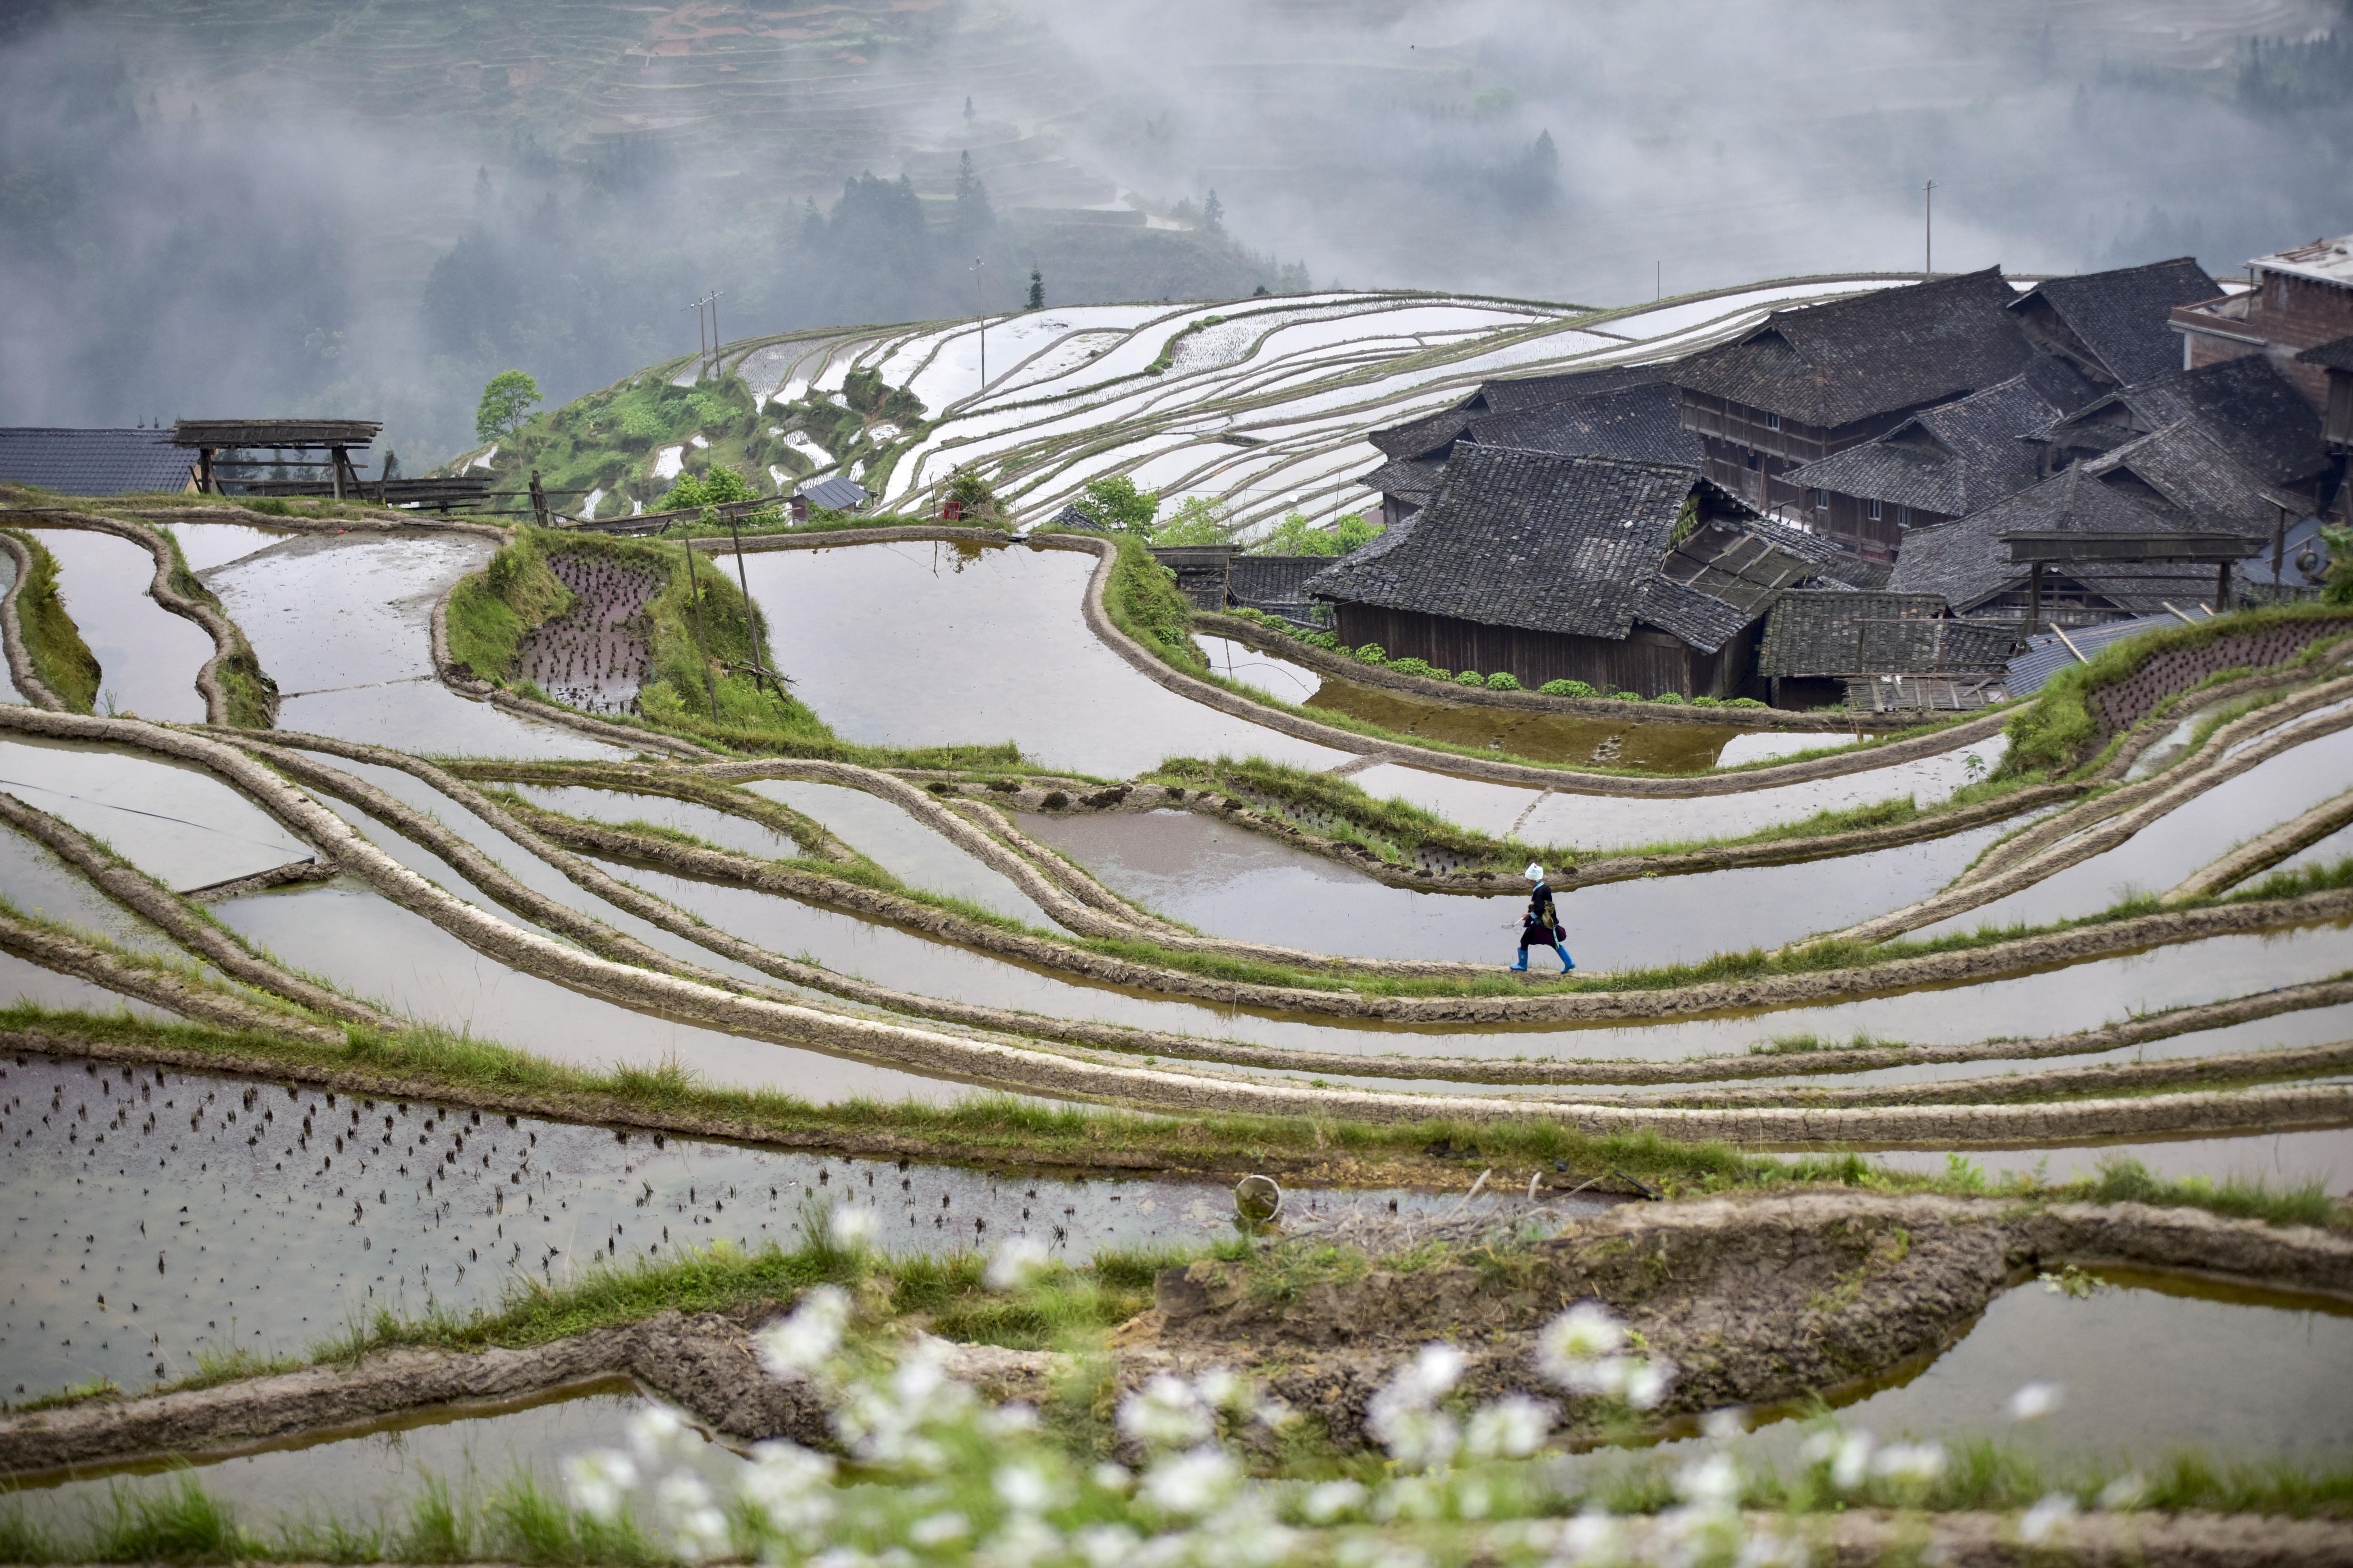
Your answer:
[[[2141,505],[2132,496],[2101,484],[2082,465],[2052,475],[2033,489],[1969,512],[1958,522],[1913,529],[1897,552],[1887,585],[1897,592],[1937,592],[1955,611],[1972,611],[1986,599],[2017,588],[2028,569],[2014,567],[2000,543],[2002,534],[2089,531],[2089,534],[2160,534],[2179,531],[2181,522]],[[2082,583],[2125,609],[2162,609],[2162,599],[2198,597],[2200,583],[2212,590],[2207,567],[2177,564],[2068,564],[2066,578]]]

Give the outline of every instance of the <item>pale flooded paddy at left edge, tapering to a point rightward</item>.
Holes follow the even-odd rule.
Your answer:
[[[7,736],[0,790],[104,839],[174,889],[311,858],[308,844],[228,785],[148,755]]]

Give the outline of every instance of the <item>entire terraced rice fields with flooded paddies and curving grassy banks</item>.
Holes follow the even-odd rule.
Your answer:
[[[1609,331],[1657,346],[1769,294]],[[1024,505],[1049,505],[1089,440],[1134,456],[1113,423],[1165,440],[1181,484],[1247,456],[1214,480],[1240,494],[1591,336],[1508,303],[1362,306],[1235,315],[1101,395],[1054,388],[1151,364],[1184,322],[1031,322],[892,494],[986,447],[1021,454]],[[755,369],[821,386],[875,362],[948,388],[958,343],[760,348]],[[1212,378],[1217,397],[1176,397]],[[1089,614],[1115,557],[1085,545],[786,536],[744,581],[833,741],[720,750],[633,719],[659,576],[558,550],[576,607],[522,635],[501,689],[445,649],[494,538],[155,522],[275,682],[278,724],[224,724],[202,649],[158,665],[195,691],[169,724],[0,705],[0,1396],[80,1389],[0,1415],[0,1467],[33,1486],[12,1528],[68,1528],[165,1450],[254,1507],[393,1507],[426,1467],[553,1486],[647,1392],[722,1439],[673,1460],[739,1486],[729,1446],[802,1427],[781,1385],[711,1368],[751,1368],[746,1326],[859,1255],[892,1258],[859,1267],[901,1305],[929,1281],[908,1324],[972,1368],[1047,1356],[972,1375],[1052,1399],[1021,1378],[1061,1366],[1061,1328],[972,1307],[972,1258],[1009,1239],[1087,1281],[1089,1305],[1054,1298],[1071,1333],[1158,1288],[1120,1331],[1141,1335],[1118,1340],[1129,1387],[1200,1371],[1217,1345],[1186,1335],[1228,1328],[1275,1387],[1325,1356],[1285,1335],[1414,1269],[1442,1298],[1471,1269],[1449,1248],[1541,1274],[1586,1246],[1666,1258],[1673,1232],[1685,1274],[1635,1288],[1588,1260],[1558,1286],[1647,1324],[1687,1373],[1664,1427],[1569,1410],[1562,1432],[1605,1453],[1562,1476],[1624,1460],[1605,1439],[1718,1453],[1697,1422],[1720,1403],[1758,1408],[1748,1462],[1805,1465],[1809,1394],[1960,1443],[2026,1380],[2075,1389],[2035,1429],[2049,1455],[2341,1465],[2353,1443],[2353,1269],[2327,1229],[2353,1178],[2344,628],[2313,621],[2299,663],[2184,689],[2033,776],[2005,766],[2012,715],[1859,738],[1565,708],[1541,715],[1551,750],[1506,766],[1315,724],[1367,698],[1304,665],[1252,679],[1238,644],[1209,651],[1297,708],[1181,677]],[[120,588],[96,552],[61,559],[106,665],[115,628],[162,609],[80,588],[75,567]],[[2191,712],[2212,724],[2181,729]],[[920,750],[946,745],[993,759]],[[1795,748],[1819,755],[1774,762]],[[1574,976],[1508,969],[1527,858],[1562,891]],[[1219,1269],[1311,1265],[1207,1253],[1245,1173],[1292,1190],[1275,1229],[1301,1246],[1421,1262],[1285,1284],[1273,1338],[1249,1340],[1231,1314],[1273,1298],[1221,1295]],[[842,1208],[868,1218],[842,1229]],[[1755,1227],[1784,1227],[1786,1281],[1741,1272]],[[1139,1248],[1188,1251],[1155,1286]],[[1849,1274],[1807,1274],[1821,1248]],[[1332,1410],[1362,1413],[1407,1340],[1442,1331],[1414,1316],[1440,1305],[1365,1302],[1325,1340],[1358,1368],[1332,1373]],[[1694,1338],[1718,1312],[1746,1324],[1729,1349]],[[1497,1319],[1492,1342],[1527,1333]],[[402,1345],[426,1349],[381,1359]],[[329,1349],[358,1356],[336,1387],[374,1389],[334,1420],[301,1392],[322,1373],[287,1371]],[[386,1472],[388,1450],[416,1469]]]

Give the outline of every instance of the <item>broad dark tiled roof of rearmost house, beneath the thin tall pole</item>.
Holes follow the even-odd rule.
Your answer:
[[[1673,367],[1675,386],[1812,425],[1946,402],[2019,374],[2026,343],[2000,268],[1774,310],[1739,343]]]

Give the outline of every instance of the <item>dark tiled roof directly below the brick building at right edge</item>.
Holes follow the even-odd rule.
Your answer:
[[[2120,388],[2052,421],[2040,435],[2066,447],[2113,449],[2184,418],[2198,421],[2266,484],[2304,484],[2329,470],[2320,411],[2264,355]]]

